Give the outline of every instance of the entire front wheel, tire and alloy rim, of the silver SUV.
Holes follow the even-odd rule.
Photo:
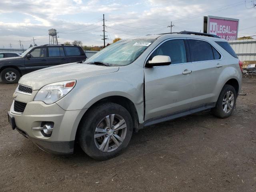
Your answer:
[[[119,154],[132,137],[132,117],[123,106],[105,103],[89,109],[79,130],[79,143],[88,156],[107,160]]]

